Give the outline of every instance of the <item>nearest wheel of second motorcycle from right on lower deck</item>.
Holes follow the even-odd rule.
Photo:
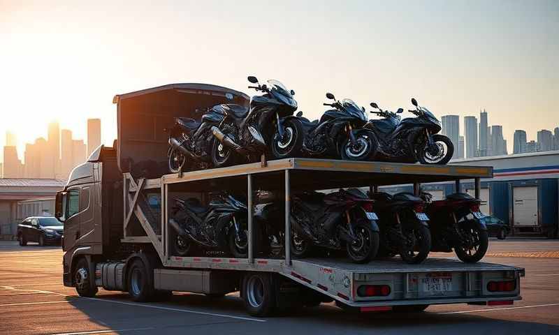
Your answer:
[[[431,250],[431,233],[425,225],[418,225],[402,232],[404,240],[400,244],[400,257],[407,264],[419,264]]]

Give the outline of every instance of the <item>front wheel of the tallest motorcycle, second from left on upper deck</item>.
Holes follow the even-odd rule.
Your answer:
[[[284,135],[280,136],[277,129],[272,140],[274,158],[300,157],[303,147],[303,124],[298,119],[286,119],[283,122]]]

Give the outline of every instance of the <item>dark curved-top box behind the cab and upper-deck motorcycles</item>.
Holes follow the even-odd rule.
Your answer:
[[[136,178],[159,178],[169,173],[165,129],[173,128],[176,117],[200,121],[207,107],[248,106],[249,96],[210,84],[169,84],[115,96],[113,103],[117,103],[120,171]]]

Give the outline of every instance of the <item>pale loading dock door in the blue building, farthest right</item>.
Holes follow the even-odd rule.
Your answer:
[[[537,225],[537,186],[512,188],[514,225]]]

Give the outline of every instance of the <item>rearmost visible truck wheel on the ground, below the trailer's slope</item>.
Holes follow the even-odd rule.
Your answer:
[[[271,315],[275,309],[275,291],[270,274],[246,274],[242,281],[242,299],[250,315]]]

